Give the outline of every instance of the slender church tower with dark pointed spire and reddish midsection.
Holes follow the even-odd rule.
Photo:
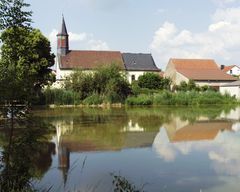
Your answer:
[[[68,33],[64,17],[62,17],[61,31],[57,34],[57,54],[65,56],[69,51]]]

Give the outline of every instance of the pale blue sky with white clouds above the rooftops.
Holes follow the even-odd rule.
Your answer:
[[[71,50],[152,53],[165,70],[170,58],[240,65],[240,0],[26,0],[33,27],[49,38],[64,15]]]

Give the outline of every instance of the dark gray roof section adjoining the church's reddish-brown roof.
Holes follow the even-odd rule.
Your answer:
[[[123,53],[122,57],[127,71],[160,71],[151,54]]]

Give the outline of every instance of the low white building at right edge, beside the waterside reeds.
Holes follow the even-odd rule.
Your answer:
[[[222,85],[219,90],[222,94],[228,93],[231,96],[235,96],[240,99],[240,81],[234,81],[232,83]]]

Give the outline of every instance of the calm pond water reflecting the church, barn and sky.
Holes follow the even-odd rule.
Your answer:
[[[30,143],[16,153],[32,157],[28,179],[37,189],[113,191],[117,175],[144,191],[239,191],[240,108],[65,108],[35,115],[50,128],[36,137],[36,148]]]

